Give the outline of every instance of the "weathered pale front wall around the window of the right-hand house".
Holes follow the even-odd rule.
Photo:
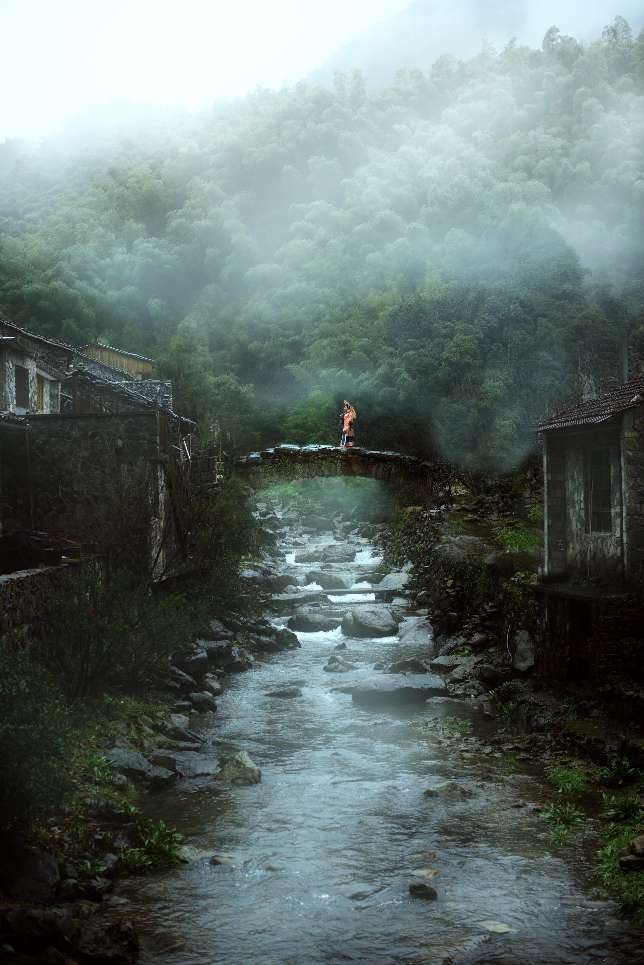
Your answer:
[[[610,450],[610,533],[590,532],[587,505],[586,454],[592,449]],[[622,466],[617,429],[579,433],[566,437],[566,565],[580,576],[621,583],[622,552]],[[590,546],[590,565],[588,549]]]

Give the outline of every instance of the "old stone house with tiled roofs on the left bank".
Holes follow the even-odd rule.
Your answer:
[[[194,426],[173,412],[172,385],[151,377],[150,359],[85,348],[0,321],[0,569],[13,571],[4,565],[20,534],[55,544],[78,538],[81,519],[85,548],[97,552],[87,534],[113,522],[100,504],[112,473],[138,485],[127,511],[147,527],[150,572],[162,575],[182,538]]]

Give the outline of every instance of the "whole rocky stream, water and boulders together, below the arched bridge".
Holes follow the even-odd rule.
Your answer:
[[[121,879],[106,921],[126,910],[164,965],[644,962],[594,891],[595,799],[577,796],[573,843],[548,842],[546,738],[495,716],[476,657],[437,654],[406,573],[383,575],[382,529],[268,512],[275,545],[242,574],[265,618],[222,615],[185,657],[199,686],[175,674],[185,717],[154,751],[182,780],[147,810],[185,860]]]

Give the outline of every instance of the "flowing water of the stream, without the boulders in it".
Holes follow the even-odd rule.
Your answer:
[[[311,565],[294,564],[295,536],[316,545],[332,534],[282,531],[283,565],[301,573]],[[359,565],[379,562],[373,547],[357,548],[343,567],[351,580]],[[331,594],[321,612],[356,605]],[[405,610],[402,600],[394,606]],[[642,929],[591,896],[596,822],[573,844],[548,844],[534,810],[556,797],[544,764],[508,771],[499,758],[463,757],[472,738],[500,728],[480,700],[374,710],[331,692],[377,661],[427,656],[417,634],[347,640],[342,655],[359,670],[344,675],[322,671],[339,629],[298,637],[301,649],[228,677],[216,718],[202,726],[218,756],[247,751],[261,784],[195,779],[150,800],[149,812],[174,822],[186,843],[236,853],[240,867],[202,860],[124,882],[144,965],[644,962]],[[302,697],[266,697],[287,684]],[[433,718],[446,722],[440,742],[426,730]],[[423,796],[446,779],[470,796]],[[597,812],[590,796],[575,800]],[[439,872],[430,879],[437,900],[409,895],[410,882],[427,880],[414,869]]]

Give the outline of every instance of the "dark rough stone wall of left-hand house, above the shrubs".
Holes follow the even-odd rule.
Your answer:
[[[30,416],[29,439],[36,528],[49,532],[67,531],[79,502],[91,505],[87,481],[106,458],[160,457],[155,411]]]

